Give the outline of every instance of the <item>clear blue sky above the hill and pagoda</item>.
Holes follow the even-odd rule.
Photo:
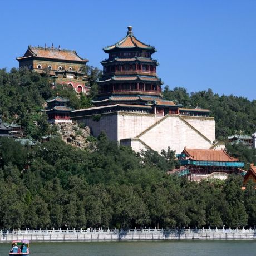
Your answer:
[[[156,47],[157,73],[170,88],[212,88],[256,99],[255,0],[0,0],[0,68],[18,67],[28,45],[75,49],[101,68],[102,47],[132,26]]]

